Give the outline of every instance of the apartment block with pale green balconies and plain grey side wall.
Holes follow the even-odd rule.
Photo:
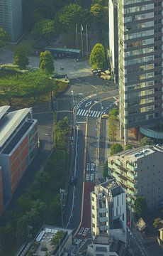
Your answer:
[[[162,158],[160,146],[144,146],[108,157],[111,174],[125,188],[131,208],[137,196],[145,197],[149,210],[162,207]]]

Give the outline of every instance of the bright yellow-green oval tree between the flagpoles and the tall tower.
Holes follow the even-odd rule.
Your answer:
[[[106,51],[101,43],[96,43],[91,50],[89,63],[93,69],[106,68]]]

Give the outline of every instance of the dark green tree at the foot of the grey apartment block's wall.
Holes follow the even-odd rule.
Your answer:
[[[145,217],[147,214],[147,201],[144,196],[137,196],[135,199],[134,212],[139,217]]]

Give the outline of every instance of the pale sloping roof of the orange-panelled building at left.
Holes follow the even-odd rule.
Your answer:
[[[9,112],[6,114],[6,117],[0,119],[0,147],[4,146],[7,139],[9,139],[29,112],[30,108],[24,108],[23,110]]]

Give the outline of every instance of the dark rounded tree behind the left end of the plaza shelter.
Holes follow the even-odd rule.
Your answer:
[[[43,18],[32,29],[32,35],[34,38],[40,38],[45,40],[48,44],[55,36],[59,34],[59,26],[50,19]]]

